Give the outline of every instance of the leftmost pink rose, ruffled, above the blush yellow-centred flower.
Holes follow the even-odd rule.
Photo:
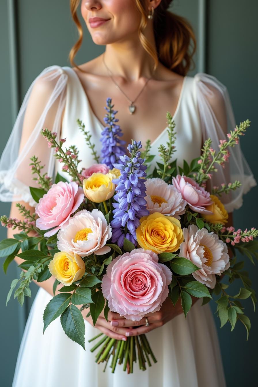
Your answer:
[[[39,216],[36,226],[40,230],[55,227],[44,234],[44,236],[54,235],[68,222],[71,214],[79,208],[83,200],[83,189],[75,182],[53,184],[36,205],[35,212]]]

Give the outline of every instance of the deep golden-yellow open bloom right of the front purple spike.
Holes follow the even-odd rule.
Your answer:
[[[172,253],[179,249],[184,236],[178,219],[154,212],[140,219],[136,229],[136,238],[140,247],[152,250],[157,254]]]

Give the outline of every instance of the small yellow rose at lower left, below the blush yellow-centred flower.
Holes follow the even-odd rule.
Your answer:
[[[82,278],[85,264],[80,255],[60,251],[55,253],[48,269],[63,285],[69,286]]]

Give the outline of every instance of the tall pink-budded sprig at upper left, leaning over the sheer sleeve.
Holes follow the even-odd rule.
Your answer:
[[[74,145],[63,149],[62,146],[65,143],[66,139],[60,139],[59,142],[56,141],[57,133],[50,132],[47,128],[41,130],[41,134],[48,141],[48,146],[50,148],[55,148],[54,156],[58,159],[60,163],[63,163],[62,170],[67,172],[71,176],[72,181],[77,182],[79,185],[82,185],[83,177],[78,172],[78,164],[81,162],[78,158],[78,149]]]

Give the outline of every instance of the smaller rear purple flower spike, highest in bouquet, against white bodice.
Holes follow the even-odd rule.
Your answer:
[[[118,118],[114,118],[117,110],[113,110],[114,105],[112,105],[112,99],[106,99],[107,106],[105,109],[108,113],[104,117],[104,122],[107,125],[102,134],[102,149],[101,149],[101,157],[102,163],[106,164],[110,169],[113,168],[114,163],[120,161],[119,157],[125,154],[125,145],[124,140],[120,140],[119,137],[122,137],[123,133],[119,125],[116,124],[118,122]]]

